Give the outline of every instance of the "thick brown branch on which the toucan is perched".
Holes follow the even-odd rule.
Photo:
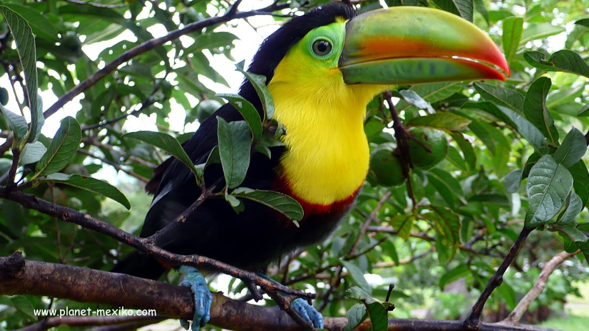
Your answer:
[[[0,257],[0,294],[31,294],[78,302],[107,304],[125,309],[155,309],[158,317],[193,317],[193,294],[188,287],[173,286],[126,274],[102,272],[63,264],[25,261],[19,253]],[[68,319],[74,323],[74,319]],[[84,319],[82,319],[84,320]],[[88,319],[85,319],[89,322]],[[104,321],[103,321],[104,322]],[[231,330],[303,330],[282,310],[213,294],[211,325]],[[326,329],[343,330],[345,317],[326,317]],[[77,324],[80,325],[80,324]],[[366,320],[358,330],[368,330]],[[389,319],[388,330],[461,330],[460,321]],[[37,329],[38,330],[38,329]],[[483,323],[481,330],[550,330],[538,327],[499,326]]]

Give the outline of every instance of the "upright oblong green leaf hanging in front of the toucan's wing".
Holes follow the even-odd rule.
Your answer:
[[[228,188],[236,188],[246,178],[250,166],[252,134],[246,121],[227,123],[217,116],[219,156]]]

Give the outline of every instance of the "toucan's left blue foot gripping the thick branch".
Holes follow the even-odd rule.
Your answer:
[[[198,331],[201,327],[209,323],[211,319],[211,303],[213,303],[213,293],[207,286],[204,276],[198,272],[195,267],[181,266],[181,273],[186,273],[186,277],[180,283],[180,286],[190,287],[194,293],[194,317],[192,320],[192,330]],[[180,320],[180,325],[188,329],[188,321]]]

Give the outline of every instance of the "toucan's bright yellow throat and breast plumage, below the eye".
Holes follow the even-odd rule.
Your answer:
[[[382,85],[346,85],[338,68],[315,65],[293,46],[274,70],[268,88],[274,118],[286,127],[280,160],[292,193],[307,203],[329,205],[362,185],[369,148],[366,104]]]

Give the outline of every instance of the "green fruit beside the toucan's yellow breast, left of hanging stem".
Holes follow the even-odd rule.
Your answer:
[[[382,146],[382,145],[381,145]],[[370,155],[370,177],[376,177],[376,182],[382,186],[399,186],[405,183],[401,160],[393,154],[388,146],[376,148]],[[371,178],[373,179],[373,178]],[[371,184],[373,181],[371,181]]]

